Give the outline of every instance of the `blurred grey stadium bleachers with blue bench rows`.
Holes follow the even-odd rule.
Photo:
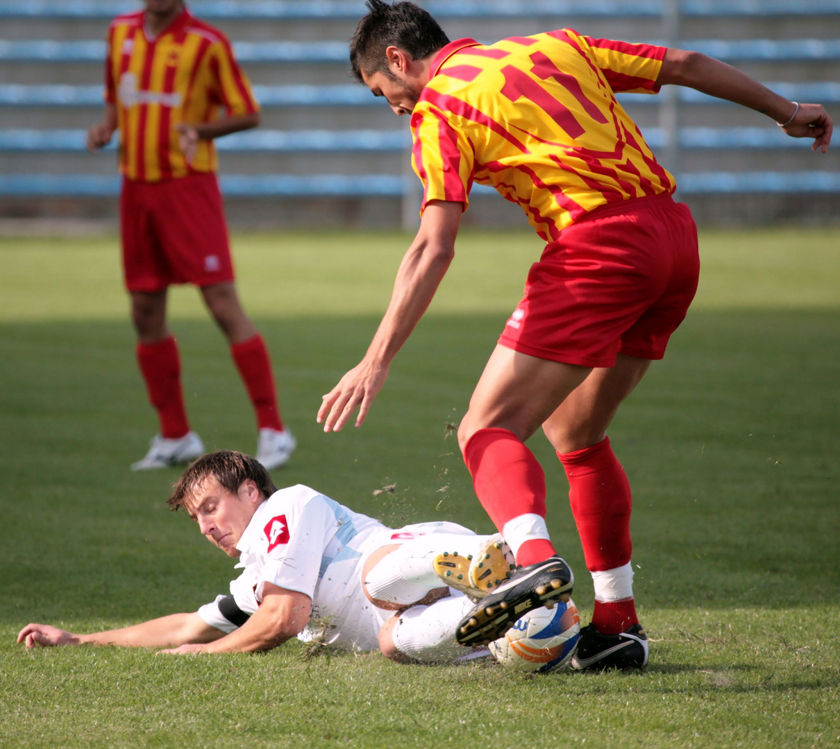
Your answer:
[[[492,41],[573,25],[595,36],[698,49],[771,81],[770,88],[789,98],[830,108],[840,103],[840,0],[421,4],[453,38]],[[0,0],[0,215],[49,215],[56,210],[50,198],[68,199],[60,210],[70,214],[84,214],[90,199],[104,199],[113,214],[113,154],[83,153],[84,133],[102,106],[108,19],[138,7],[130,0]],[[406,169],[407,122],[349,82],[346,39],[364,3],[196,0],[191,7],[234,39],[265,108],[264,128],[218,142],[229,199],[417,200]],[[652,147],[662,149],[665,165],[678,174],[680,195],[690,202],[740,193],[760,203],[761,194],[793,200],[809,193],[822,194],[820,205],[840,204],[835,155],[816,159],[808,143],[787,138],[757,113],[683,89],[675,96],[621,99]],[[352,213],[347,205],[343,216]],[[102,215],[102,205],[94,212]],[[402,214],[384,211],[412,213],[412,205],[403,205]]]

